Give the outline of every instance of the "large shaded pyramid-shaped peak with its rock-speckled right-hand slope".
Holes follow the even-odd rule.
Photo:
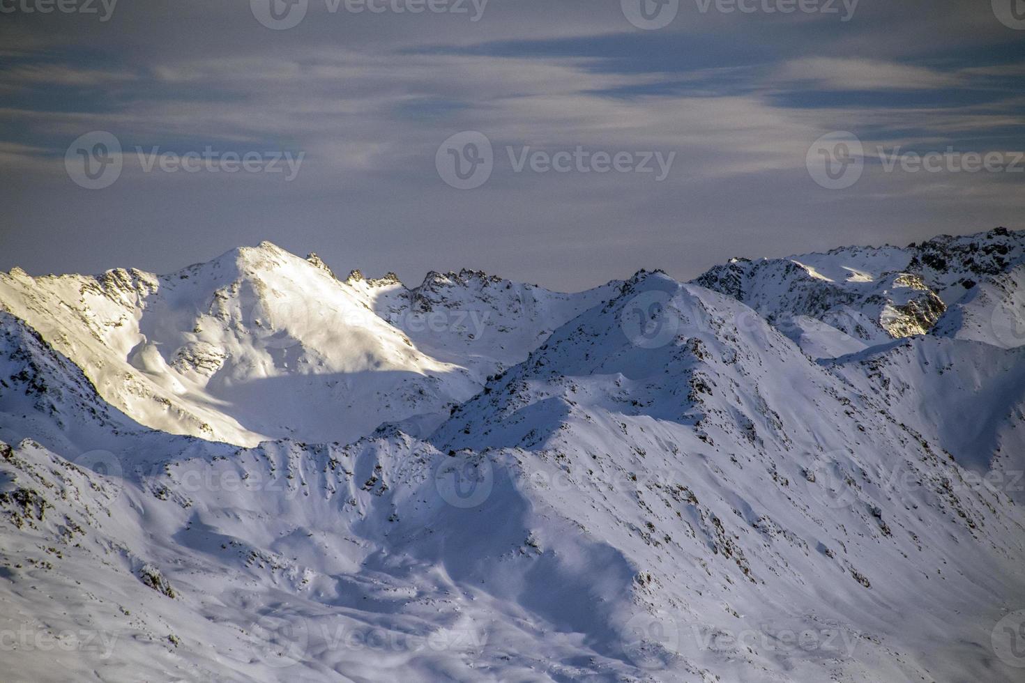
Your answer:
[[[738,329],[739,308],[640,278],[432,441],[456,458],[510,449],[540,514],[615,549],[634,579],[620,587],[629,600],[601,596],[601,621],[622,636],[610,647],[659,680],[704,668],[725,680],[1013,680],[988,642],[1023,590],[1018,508],[963,485],[936,440],[769,326]],[[898,465],[918,485],[891,488]],[[558,535],[532,536],[559,555]],[[809,647],[777,632],[808,632]]]

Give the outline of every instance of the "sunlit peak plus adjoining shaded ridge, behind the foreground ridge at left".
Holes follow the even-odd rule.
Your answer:
[[[163,276],[15,269],[0,273],[0,309],[140,423],[255,445],[437,423],[608,291],[555,294],[465,271],[413,290],[339,282],[316,255],[264,242]]]

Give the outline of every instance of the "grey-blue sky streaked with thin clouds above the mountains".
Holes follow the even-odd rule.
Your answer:
[[[0,0],[0,268],[575,290],[1023,228],[1023,0]]]

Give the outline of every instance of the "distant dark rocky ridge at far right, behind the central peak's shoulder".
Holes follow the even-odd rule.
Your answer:
[[[815,357],[925,334],[947,306],[1025,255],[1025,232],[996,228],[920,245],[844,247],[786,259],[735,259],[694,281],[743,301]],[[826,328],[809,326],[811,317]]]

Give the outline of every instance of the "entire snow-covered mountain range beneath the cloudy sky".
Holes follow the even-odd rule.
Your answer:
[[[1022,243],[0,276],[4,678],[1021,680]]]

